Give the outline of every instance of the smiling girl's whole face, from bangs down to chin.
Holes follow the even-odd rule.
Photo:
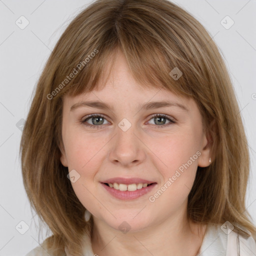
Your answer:
[[[163,101],[169,105],[151,104]],[[195,101],[142,88],[121,53],[102,90],[64,97],[62,139],[60,160],[76,196],[94,220],[119,230],[184,215],[197,166],[209,164]]]

